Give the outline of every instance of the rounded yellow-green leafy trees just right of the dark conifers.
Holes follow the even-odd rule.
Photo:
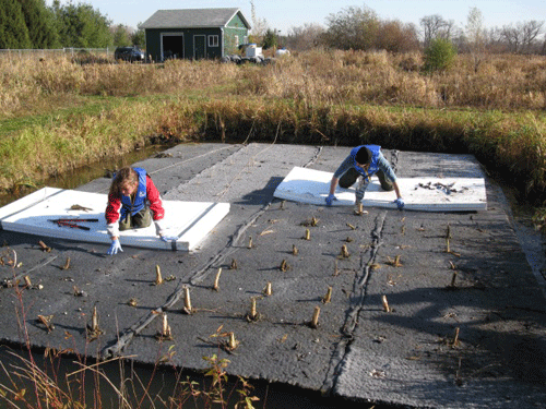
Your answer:
[[[62,47],[104,48],[114,44],[110,21],[91,4],[54,0],[52,10]]]

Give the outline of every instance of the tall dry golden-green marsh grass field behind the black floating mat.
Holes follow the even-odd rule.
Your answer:
[[[482,61],[427,73],[419,53],[329,50],[270,65],[0,60],[0,189],[151,140],[275,140],[471,153],[542,203],[546,58]]]

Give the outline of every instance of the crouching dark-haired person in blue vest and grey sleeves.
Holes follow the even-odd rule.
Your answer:
[[[394,203],[402,210],[404,208],[404,200],[396,183],[396,176],[381,153],[381,146],[378,145],[360,145],[351,151],[351,154],[343,160],[332,177],[330,193],[325,199],[327,205],[331,206],[337,200],[335,197],[335,188],[337,188],[337,184],[340,188],[347,189],[358,180],[355,192],[355,205],[358,206],[363,202],[364,193],[373,175],[377,175],[379,178],[381,189],[384,191],[394,190],[396,193]]]

